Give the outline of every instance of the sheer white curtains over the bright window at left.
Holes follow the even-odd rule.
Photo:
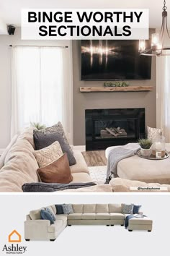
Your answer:
[[[68,48],[12,48],[11,137],[31,121],[51,126],[61,121],[72,143],[71,56]]]

